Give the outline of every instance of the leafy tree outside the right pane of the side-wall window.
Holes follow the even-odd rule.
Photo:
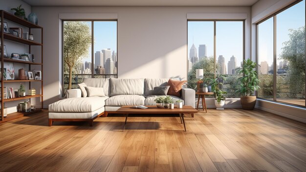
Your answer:
[[[280,59],[288,61],[285,78],[289,84],[288,96],[297,98],[299,94],[304,94],[305,98],[305,26],[289,31],[289,40],[283,43],[280,55]]]

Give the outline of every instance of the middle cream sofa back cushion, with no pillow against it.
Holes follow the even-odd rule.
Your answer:
[[[144,79],[110,78],[110,96],[143,94]]]

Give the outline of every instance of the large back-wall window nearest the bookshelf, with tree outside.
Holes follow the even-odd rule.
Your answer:
[[[117,21],[63,21],[63,96],[86,77],[117,77],[117,63]]]

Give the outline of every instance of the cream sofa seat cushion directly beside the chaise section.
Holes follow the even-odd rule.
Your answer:
[[[105,101],[106,106],[145,105],[145,97],[139,95],[112,96]]]

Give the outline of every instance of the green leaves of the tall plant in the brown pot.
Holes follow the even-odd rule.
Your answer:
[[[243,74],[242,77],[238,78],[240,81],[240,92],[241,96],[252,96],[255,91],[259,90],[260,80],[257,78],[257,72],[254,70],[256,63],[250,59],[243,60],[242,68],[236,69],[238,74]]]

